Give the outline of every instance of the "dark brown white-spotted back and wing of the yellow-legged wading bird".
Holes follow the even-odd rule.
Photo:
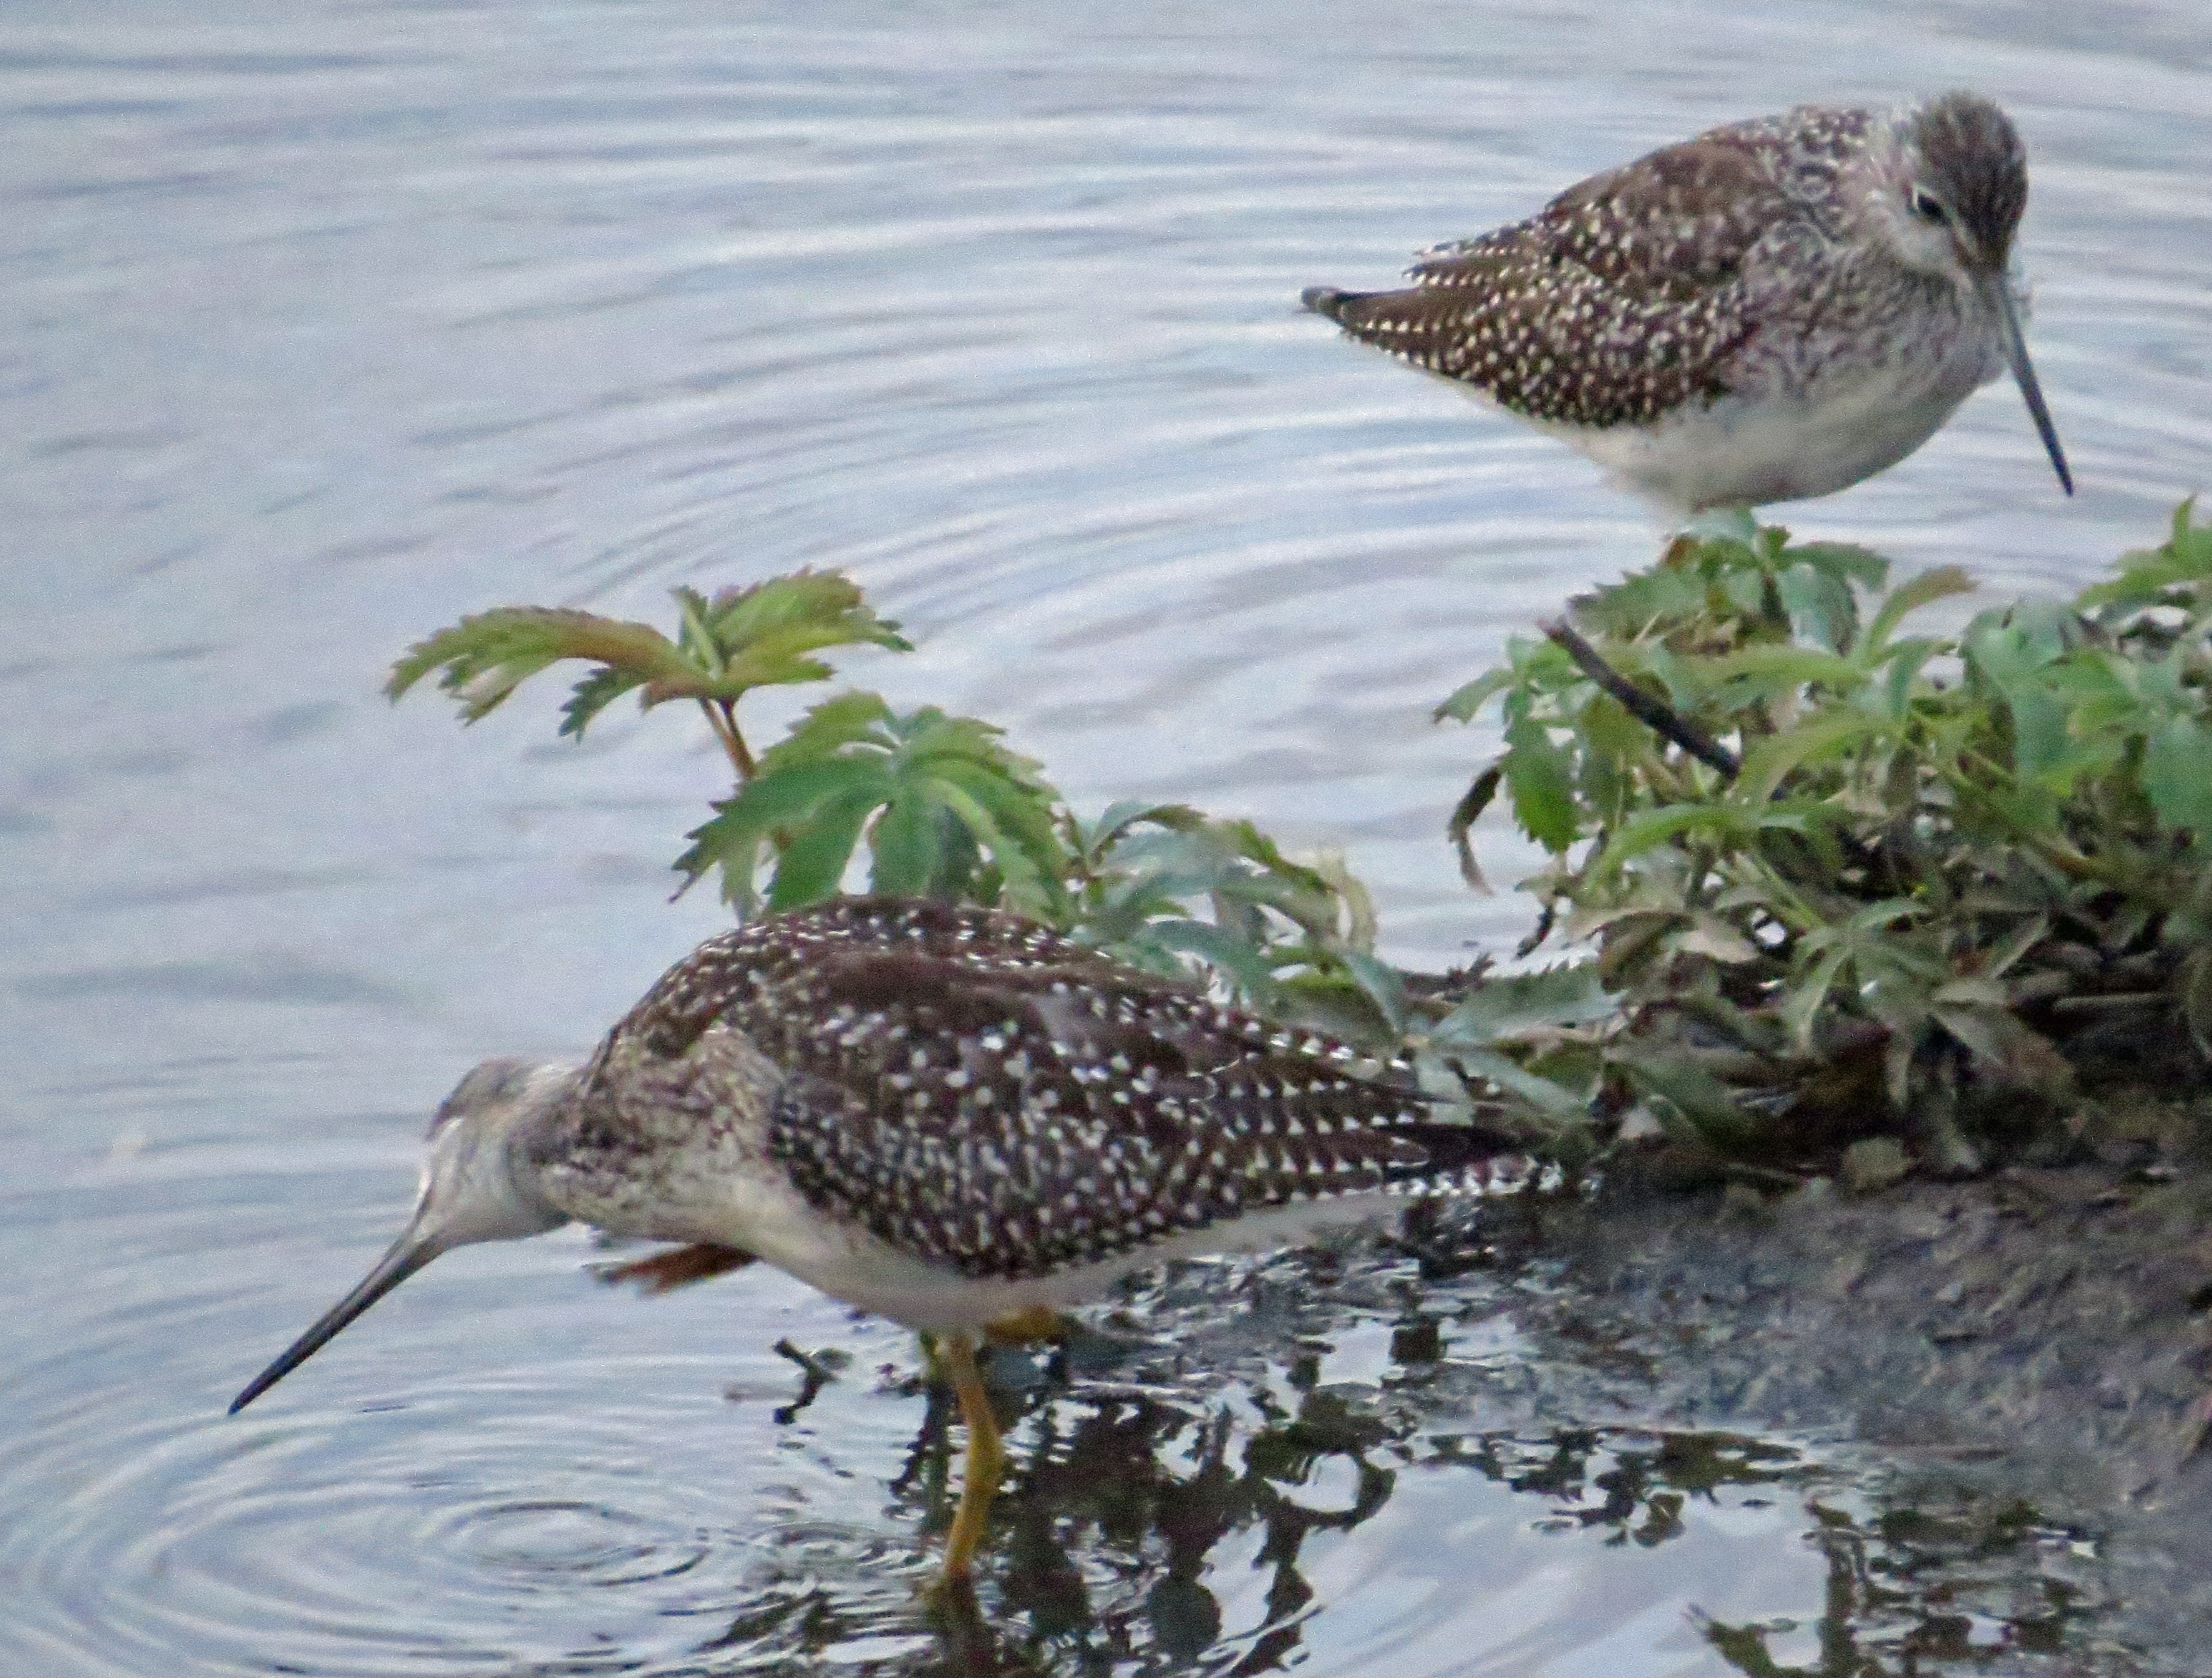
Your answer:
[[[841,900],[699,946],[630,1013],[655,1059],[732,1026],[816,1207],[969,1276],[1042,1276],[1298,1198],[1471,1185],[1504,1136],[1405,1068],[1013,915]]]

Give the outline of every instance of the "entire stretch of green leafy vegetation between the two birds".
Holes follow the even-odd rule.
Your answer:
[[[476,721],[573,659],[568,736],[628,692],[695,701],[737,785],[675,867],[739,915],[845,889],[1013,909],[1405,1055],[1440,1101],[1502,1099],[1571,1170],[1661,1139],[1699,1170],[1878,1187],[2064,1154],[2130,1083],[2166,1105],[2121,1130],[2188,1132],[2170,1097],[2212,1057],[2212,528],[2183,504],[2073,601],[1916,628],[1971,588],[1743,520],[1515,639],[1438,707],[1502,721],[1449,822],[1469,882],[1493,805],[1551,853],[1520,955],[1564,959],[1509,975],[1396,968],[1340,856],[1190,805],[1082,816],[973,716],[847,690],[754,752],[752,690],[830,679],[830,648],[909,650],[836,573],[679,588],[675,637],[491,610],[387,692],[436,674]]]

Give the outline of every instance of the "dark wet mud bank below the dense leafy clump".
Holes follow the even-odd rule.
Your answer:
[[[1940,1461],[2106,1534],[2117,1623],[2168,1651],[2146,1669],[2212,1671],[2212,1172],[2152,1178],[1752,1203],[1626,1174],[1486,1236],[1509,1313],[1582,1388],[1533,1410],[1601,1386],[1624,1422]]]

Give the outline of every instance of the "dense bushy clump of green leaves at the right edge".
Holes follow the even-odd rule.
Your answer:
[[[1905,630],[1958,568],[1885,584],[1683,537],[1440,707],[1500,710],[1451,833],[1504,796],[1551,851],[1531,946],[1597,944],[1617,1103],[1732,1156],[1909,1123],[1969,1167],[1962,1103],[2057,1110],[2172,1024],[2212,1046],[2212,531],[2183,506],[2073,606],[1953,635]]]

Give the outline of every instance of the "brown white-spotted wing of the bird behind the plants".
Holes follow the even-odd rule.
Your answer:
[[[1402,292],[1307,292],[1354,338],[1533,420],[1648,424],[1728,391],[1754,332],[1743,268],[1805,237],[1863,113],[1717,128],[1595,175],[1511,228],[1438,245]],[[1785,144],[1783,135],[1790,135]]]

